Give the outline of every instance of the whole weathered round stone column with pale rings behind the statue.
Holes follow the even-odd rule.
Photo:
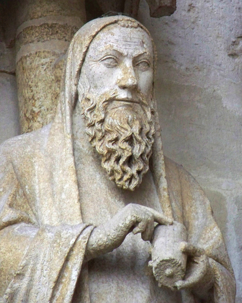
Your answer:
[[[21,133],[55,115],[64,55],[85,23],[85,0],[16,1],[16,78]]]

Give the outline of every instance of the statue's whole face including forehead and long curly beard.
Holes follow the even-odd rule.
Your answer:
[[[133,190],[154,141],[153,47],[139,27],[108,25],[93,39],[78,83],[90,143],[111,180]]]

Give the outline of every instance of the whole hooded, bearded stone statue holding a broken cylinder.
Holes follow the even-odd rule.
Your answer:
[[[87,23],[54,121],[2,144],[2,302],[234,302],[210,203],[163,156],[155,63],[134,19]]]

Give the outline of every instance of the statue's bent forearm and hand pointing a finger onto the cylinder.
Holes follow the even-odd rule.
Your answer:
[[[168,225],[172,224],[173,220],[152,208],[128,204],[107,223],[94,228],[88,240],[86,259],[90,260],[113,251],[131,231],[133,234],[141,233],[144,241],[151,240],[154,222]]]

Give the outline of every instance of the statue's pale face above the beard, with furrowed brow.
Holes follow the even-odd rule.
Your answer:
[[[137,102],[137,91],[149,98],[153,82],[153,47],[141,28],[109,25],[92,41],[85,69],[93,92],[116,90],[118,101]]]

